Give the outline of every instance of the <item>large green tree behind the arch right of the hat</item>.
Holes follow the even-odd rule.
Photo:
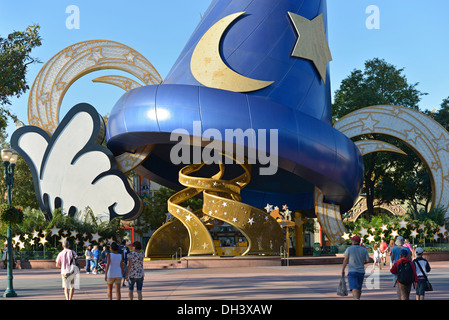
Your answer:
[[[398,69],[383,59],[374,58],[366,61],[364,70],[353,70],[335,92],[332,105],[333,120],[336,121],[355,110],[374,105],[400,105],[419,110],[419,101],[425,93],[417,89],[418,83],[410,84],[403,72],[404,69]],[[379,135],[368,135],[364,138],[398,144],[394,139]],[[401,146],[401,149],[404,149],[404,146]],[[410,152],[407,154],[413,155],[411,150],[405,152],[408,151]],[[364,156],[363,160],[364,192],[367,197],[369,215],[374,214],[375,198],[388,201],[389,197],[394,195],[395,198],[399,197],[399,200],[409,200],[406,199],[405,193],[409,192],[406,190],[410,190],[413,184],[405,187],[404,175],[410,173],[413,168],[415,171],[418,169],[425,171],[416,156],[409,158],[390,153],[370,153]],[[401,192],[396,188],[398,179],[404,185]],[[407,183],[411,182],[411,180],[407,181]],[[398,192],[392,193],[393,190]]]

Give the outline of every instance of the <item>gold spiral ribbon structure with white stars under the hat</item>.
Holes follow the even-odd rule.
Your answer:
[[[176,218],[162,225],[151,237],[145,250],[147,257],[170,256],[178,246],[186,246],[182,239],[187,230],[189,245],[188,255],[215,255],[215,247],[206,222],[214,219],[224,221],[237,228],[247,239],[248,248],[242,255],[279,254],[283,245],[283,234],[279,223],[266,212],[244,204],[240,190],[250,181],[250,165],[239,163],[244,173],[232,180],[221,179],[225,166],[219,165],[220,171],[211,178],[192,177],[204,163],[184,167],[179,172],[179,182],[187,187],[173,195],[168,201],[168,211]],[[203,193],[203,208],[192,212],[180,204]],[[168,242],[173,245],[167,245]],[[161,248],[161,244],[164,244]]]

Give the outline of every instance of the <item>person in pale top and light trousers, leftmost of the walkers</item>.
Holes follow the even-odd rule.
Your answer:
[[[56,267],[61,268],[62,287],[64,288],[64,294],[66,300],[72,300],[75,293],[75,280],[78,280],[79,270],[75,264],[71,262],[76,259],[75,251],[70,249],[70,243],[64,241],[63,250],[58,254],[56,258]],[[70,291],[69,291],[70,290]]]

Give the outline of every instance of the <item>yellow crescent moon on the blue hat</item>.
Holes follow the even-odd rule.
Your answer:
[[[251,79],[229,68],[220,55],[221,38],[229,25],[245,12],[224,17],[200,39],[192,54],[190,69],[195,79],[206,87],[234,92],[263,89],[273,81]]]

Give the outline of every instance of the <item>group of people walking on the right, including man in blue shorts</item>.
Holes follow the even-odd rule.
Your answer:
[[[370,256],[359,236],[351,238],[352,245],[344,253],[342,276],[348,266],[348,285],[353,298],[359,300],[362,294],[362,285],[365,277],[365,264],[369,263]],[[390,256],[390,272],[393,275],[394,287],[400,300],[409,300],[412,285],[416,289],[416,300],[424,300],[425,292],[429,289],[427,274],[430,272],[429,262],[423,258],[424,250],[421,247],[413,249],[411,245],[398,236],[390,241],[390,246],[382,239],[380,246],[373,247],[374,266],[385,266],[387,255]],[[412,259],[414,256],[414,259]]]

